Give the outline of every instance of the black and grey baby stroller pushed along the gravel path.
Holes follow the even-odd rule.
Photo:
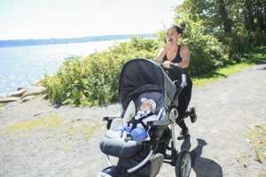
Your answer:
[[[178,75],[176,81],[173,74]],[[190,175],[190,152],[185,149],[176,150],[175,135],[177,99],[185,85],[184,71],[175,65],[164,69],[145,58],[132,59],[123,65],[118,88],[121,111],[118,116],[104,117],[107,121],[106,128],[112,129],[113,124],[122,122],[129,109],[137,110],[143,97],[153,99],[157,104],[155,114],[158,120],[147,122],[148,137],[143,140],[103,137],[99,147],[106,154],[108,167],[98,173],[98,177],[153,177],[160,172],[163,163],[176,166],[176,176]],[[132,106],[129,105],[130,102],[134,103],[134,109],[129,108]],[[117,165],[112,165],[110,156],[118,158]]]

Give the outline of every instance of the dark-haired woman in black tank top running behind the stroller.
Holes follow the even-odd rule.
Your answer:
[[[185,26],[184,26],[185,27]],[[189,135],[189,129],[184,123],[184,118],[190,116],[192,123],[197,120],[196,109],[191,107],[187,110],[192,97],[192,79],[188,73],[190,64],[190,49],[188,46],[178,45],[178,39],[182,37],[184,27],[176,25],[171,26],[167,30],[167,39],[164,47],[159,51],[158,56],[154,59],[157,63],[162,63],[162,66],[169,68],[170,65],[177,65],[184,68],[186,73],[187,86],[184,87],[178,97],[178,118],[176,124],[182,128],[177,140],[183,140]]]

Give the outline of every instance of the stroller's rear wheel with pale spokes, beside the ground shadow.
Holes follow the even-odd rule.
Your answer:
[[[181,150],[176,159],[176,177],[188,177],[191,170],[191,154],[188,150]]]

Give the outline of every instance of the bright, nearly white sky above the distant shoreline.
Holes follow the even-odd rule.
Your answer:
[[[154,34],[183,0],[0,0],[0,40]]]

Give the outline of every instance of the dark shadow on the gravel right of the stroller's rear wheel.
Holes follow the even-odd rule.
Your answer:
[[[197,177],[223,177],[222,167],[214,160],[202,158],[203,147],[207,145],[202,139],[197,139],[198,145],[194,150],[191,150],[191,139],[187,137],[181,145],[181,150],[191,150],[192,169]]]

